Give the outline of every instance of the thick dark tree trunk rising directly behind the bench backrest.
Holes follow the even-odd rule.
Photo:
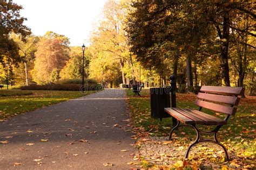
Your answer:
[[[220,56],[220,68],[223,74],[225,86],[230,86],[230,70],[228,67],[228,42],[230,35],[230,18],[228,14],[223,17],[223,34],[220,37],[221,40],[221,56]]]

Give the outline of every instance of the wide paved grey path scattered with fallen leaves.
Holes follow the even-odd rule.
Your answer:
[[[125,100],[107,89],[0,122],[0,169],[129,169]]]

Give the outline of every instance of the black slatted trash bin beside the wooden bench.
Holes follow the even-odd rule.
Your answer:
[[[170,108],[170,93],[171,87],[150,88],[152,118],[171,117],[164,111],[164,108]]]

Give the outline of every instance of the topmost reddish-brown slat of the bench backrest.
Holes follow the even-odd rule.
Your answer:
[[[244,88],[242,87],[219,87],[219,86],[202,86],[200,91],[230,95],[242,95]]]

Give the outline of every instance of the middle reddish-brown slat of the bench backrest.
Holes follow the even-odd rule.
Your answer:
[[[201,98],[203,100],[214,101],[227,103],[232,105],[238,105],[240,98],[235,96],[223,96],[223,95],[214,95],[207,93],[198,93],[197,98]]]

